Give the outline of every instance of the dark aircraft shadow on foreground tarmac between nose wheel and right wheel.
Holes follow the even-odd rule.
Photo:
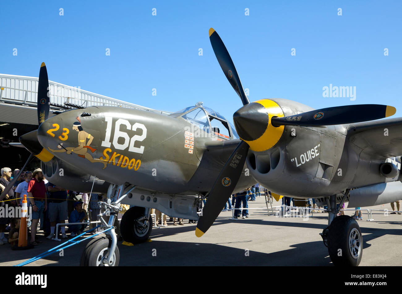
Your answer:
[[[273,253],[251,251],[245,256],[245,249],[233,248],[209,243],[188,243],[153,241],[140,247],[121,248],[120,266],[328,266],[330,259],[322,242],[308,242],[292,245],[287,249]],[[267,244],[267,246],[269,246]],[[311,248],[318,250],[311,250]],[[324,248],[322,248],[324,247]],[[319,249],[321,248],[321,249]],[[152,256],[152,250],[156,256]],[[133,256],[133,258],[130,258]],[[141,258],[138,258],[141,256]]]

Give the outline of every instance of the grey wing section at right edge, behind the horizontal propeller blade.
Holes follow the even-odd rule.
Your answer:
[[[402,118],[361,122],[349,125],[349,142],[374,157],[402,155]]]

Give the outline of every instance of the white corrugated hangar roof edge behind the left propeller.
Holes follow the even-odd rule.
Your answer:
[[[36,106],[37,89],[37,77],[0,74],[0,101],[2,102]],[[50,101],[57,104],[69,102],[86,107],[94,105],[120,106],[170,114],[170,112],[143,107],[53,81],[49,81],[49,93]]]

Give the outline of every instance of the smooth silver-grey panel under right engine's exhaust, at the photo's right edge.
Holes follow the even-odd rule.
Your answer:
[[[350,191],[348,207],[366,207],[402,199],[402,182],[386,182]]]

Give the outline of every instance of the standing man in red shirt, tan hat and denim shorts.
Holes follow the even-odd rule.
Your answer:
[[[32,205],[31,244],[38,245],[41,241],[35,240],[38,221],[47,209],[46,187],[40,168],[33,171],[33,179],[28,184],[28,199]]]

